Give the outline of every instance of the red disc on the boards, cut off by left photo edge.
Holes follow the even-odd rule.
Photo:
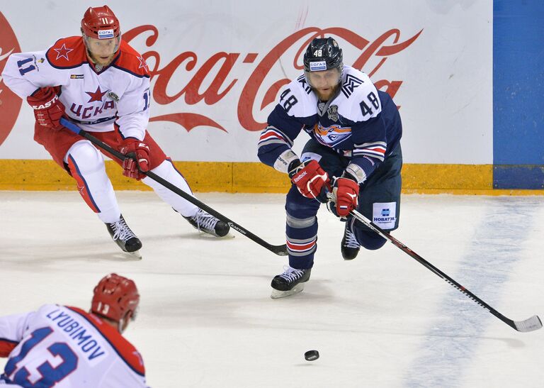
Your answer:
[[[11,26],[0,12],[0,73],[12,52],[21,52],[21,48]],[[0,76],[0,145],[4,143],[15,125],[20,109],[21,99],[6,87]]]

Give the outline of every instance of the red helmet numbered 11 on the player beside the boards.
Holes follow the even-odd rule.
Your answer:
[[[81,19],[81,32],[87,38],[111,39],[120,35],[119,20],[108,6],[89,7]]]

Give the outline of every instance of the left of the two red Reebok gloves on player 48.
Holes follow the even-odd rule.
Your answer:
[[[307,160],[300,163],[290,170],[289,177],[303,196],[317,199],[322,203],[327,202],[331,181],[317,161]]]

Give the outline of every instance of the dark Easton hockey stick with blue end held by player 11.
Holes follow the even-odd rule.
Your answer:
[[[111,155],[117,157],[119,160],[125,160],[129,157],[126,155],[123,155],[122,153],[118,152],[117,150],[114,150],[106,143],[103,143],[101,140],[98,140],[90,133],[84,131],[83,129],[79,128],[76,124],[72,123],[72,121],[68,121],[66,118],[61,118],[60,123],[68,128],[70,131],[76,133],[77,135],[80,135],[87,140],[89,140],[91,143],[96,145],[98,148],[102,148],[103,150],[108,151],[108,153],[111,153]],[[159,177],[159,175],[155,174],[152,171],[142,172],[142,174],[147,175],[147,177],[153,179],[155,182],[158,182],[159,184],[162,184],[167,189],[170,189],[172,192],[178,194],[183,199],[186,199],[187,201],[191,202],[191,204],[198,206],[200,209],[203,209],[203,211],[208,212],[215,218],[219,218],[221,221],[226,222],[229,224],[231,228],[233,228],[235,231],[242,233],[250,240],[254,240],[257,244],[263,246],[264,248],[270,250],[273,253],[276,253],[278,256],[286,256],[287,255],[287,246],[284,245],[271,245],[267,243],[262,238],[254,235],[250,231],[248,231],[243,226],[239,225],[238,223],[235,223],[234,221],[230,220],[229,218],[223,216],[219,212],[215,211],[214,209],[210,208],[210,206],[204,204],[203,202],[198,201],[195,197],[191,196],[190,194],[187,194],[186,192],[183,192],[179,187],[174,186],[174,184],[171,184],[165,179],[162,179],[162,177]]]

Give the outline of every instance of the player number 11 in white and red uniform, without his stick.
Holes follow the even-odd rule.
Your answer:
[[[192,226],[217,237],[226,235],[227,223],[138,170],[153,171],[192,195],[183,175],[146,131],[149,72],[142,55],[121,40],[113,11],[108,6],[89,8],[81,20],[81,33],[57,40],[45,51],[14,53],[8,58],[2,77],[33,107],[34,139],[72,175],[79,194],[125,252],[140,250],[142,243],[121,215],[103,157],[89,140],[60,125],[62,116],[131,156],[123,163],[118,161],[123,174],[142,179]]]

